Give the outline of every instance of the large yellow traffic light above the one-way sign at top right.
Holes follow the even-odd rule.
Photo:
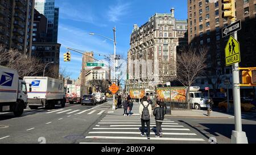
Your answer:
[[[229,17],[232,22],[236,20],[236,3],[235,0],[222,0],[222,18]]]

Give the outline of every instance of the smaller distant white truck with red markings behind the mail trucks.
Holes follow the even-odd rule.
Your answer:
[[[67,85],[66,96],[69,104],[81,103],[83,95],[86,93],[86,87],[81,85]]]

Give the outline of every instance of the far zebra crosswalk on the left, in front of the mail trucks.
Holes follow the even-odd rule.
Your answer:
[[[55,110],[30,110],[30,108],[27,108],[24,110],[23,115],[28,115],[28,114],[38,114],[38,113],[44,113],[44,114],[72,114],[72,115],[81,115],[81,114],[86,114],[86,115],[102,115],[104,112],[108,111],[111,106],[100,104],[99,106],[89,108],[86,110],[77,110],[77,109],[72,109],[70,108],[61,108],[61,109],[55,109]],[[13,112],[0,112],[1,115],[13,115]]]

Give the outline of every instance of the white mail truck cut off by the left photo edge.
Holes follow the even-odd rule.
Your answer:
[[[26,82],[19,79],[17,70],[0,66],[0,112],[21,116],[26,107]]]

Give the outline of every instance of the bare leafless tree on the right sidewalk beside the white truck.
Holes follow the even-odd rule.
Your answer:
[[[189,88],[192,84],[203,77],[205,72],[205,61],[207,60],[207,48],[183,48],[177,55],[177,81],[187,87],[187,101],[189,100]],[[188,106],[188,108],[190,108]]]

